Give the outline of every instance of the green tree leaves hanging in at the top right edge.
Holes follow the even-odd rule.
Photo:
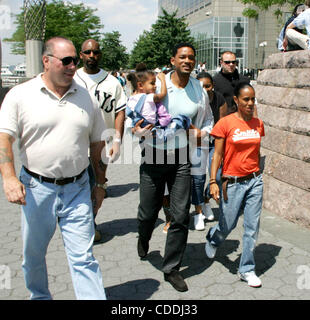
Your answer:
[[[255,5],[260,10],[268,10],[271,6],[276,5],[278,7],[283,7],[285,5],[290,5],[292,7],[296,6],[299,3],[302,3],[303,1],[300,0],[238,0],[239,2],[242,2],[244,4],[250,4]],[[280,8],[277,8],[274,11],[275,15],[278,17],[282,14],[282,11]],[[254,8],[246,8],[243,11],[243,15],[249,17],[249,18],[255,18],[258,16],[257,10]]]

